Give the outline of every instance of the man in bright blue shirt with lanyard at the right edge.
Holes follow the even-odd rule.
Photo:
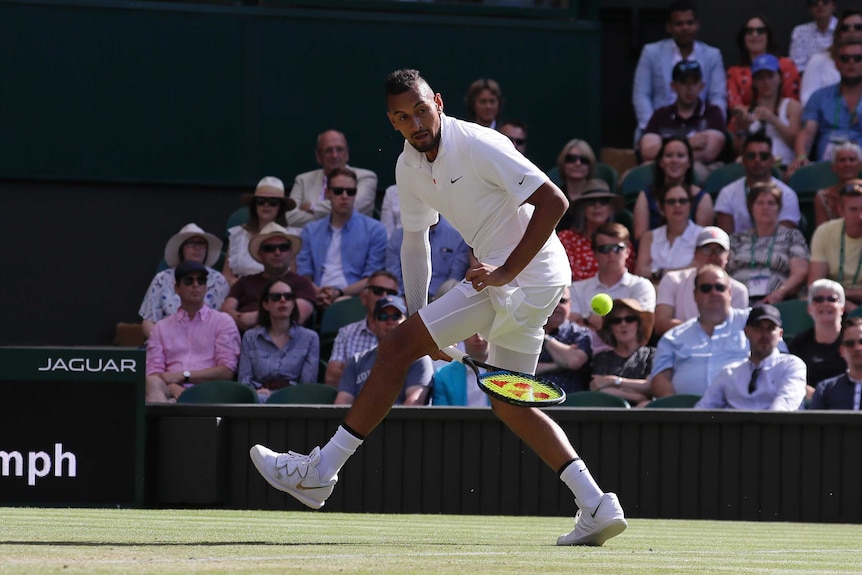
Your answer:
[[[831,159],[832,148],[841,142],[862,145],[862,38],[841,41],[835,50],[835,67],[841,81],[820,88],[805,104],[790,173],[809,163],[815,141],[817,161]]]

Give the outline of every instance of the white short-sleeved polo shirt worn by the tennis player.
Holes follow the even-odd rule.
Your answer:
[[[521,241],[533,206],[524,201],[548,176],[495,130],[441,115],[437,158],[409,142],[395,177],[406,231],[423,231],[442,214],[480,262],[502,265]],[[513,280],[520,287],[564,286],[571,269],[557,234]]]

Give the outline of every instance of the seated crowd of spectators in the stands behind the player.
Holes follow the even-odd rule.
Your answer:
[[[633,79],[634,151],[648,167],[621,176],[648,181],[624,196],[577,134],[548,162],[569,200],[556,233],[572,284],[545,326],[538,375],[633,407],[691,396],[705,409],[860,409],[862,12],[808,6],[786,51],[765,15],[745,20],[725,68],[697,40],[696,6],[675,0],[669,37],[644,46]],[[465,101],[467,119],[527,153],[528,126],[504,114],[496,81],[473,82]],[[318,136],[315,157],[289,190],[263,177],[224,234],[190,223],[168,239],[139,311],[148,401],[212,380],[261,402],[304,383],[337,389],[336,404],[359,393],[378,339],[408,314],[398,189],[349,165],[337,130]],[[810,164],[828,178],[806,218],[792,184]],[[428,241],[433,298],[476,260],[444,219]],[[590,305],[600,293],[613,299],[605,316]],[[323,318],[348,306],[355,321],[323,334]],[[786,338],[805,316],[809,328]],[[459,346],[481,360],[483,336]],[[488,406],[474,379],[425,357],[398,403]]]

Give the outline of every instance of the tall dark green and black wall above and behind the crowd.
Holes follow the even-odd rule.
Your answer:
[[[423,70],[454,115],[496,78],[543,167],[599,136],[594,22],[0,1],[0,37],[0,345],[108,343],[172,234],[222,235],[262,176],[317,168],[324,129],[392,183],[403,144],[381,86],[397,67]]]

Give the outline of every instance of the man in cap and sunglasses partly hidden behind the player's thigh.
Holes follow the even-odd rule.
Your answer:
[[[383,339],[398,325],[407,319],[407,304],[397,296],[386,296],[374,305],[371,316],[371,330],[378,339]],[[371,373],[371,367],[377,361],[377,346],[364,353],[356,354],[347,361],[344,374],[338,382],[338,395],[335,405],[351,405],[359,395],[365,380]],[[424,355],[410,364],[404,385],[395,399],[395,405],[424,405],[428,388],[434,376],[431,358]]]

